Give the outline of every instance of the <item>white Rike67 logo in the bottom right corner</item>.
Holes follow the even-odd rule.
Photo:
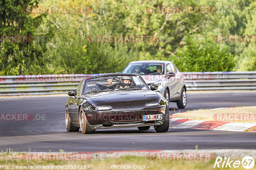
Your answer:
[[[230,160],[230,157],[217,157],[214,163],[214,168],[215,167],[234,167],[237,168],[240,165],[242,165],[245,169],[251,169],[254,166],[254,159],[251,156],[245,156],[242,161],[240,160]]]

